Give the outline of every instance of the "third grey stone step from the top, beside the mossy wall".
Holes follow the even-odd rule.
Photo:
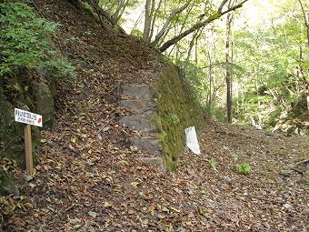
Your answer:
[[[124,116],[120,122],[124,126],[141,132],[157,132],[151,116]]]

